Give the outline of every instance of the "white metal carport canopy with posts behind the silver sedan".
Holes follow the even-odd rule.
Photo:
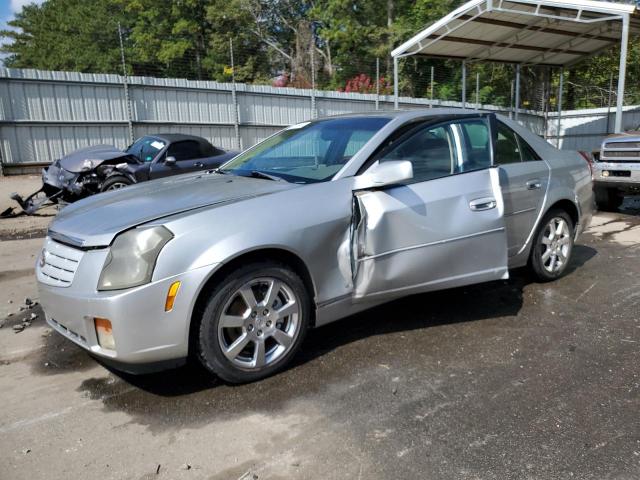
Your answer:
[[[520,65],[571,66],[619,43],[615,130],[620,132],[630,34],[640,34],[640,14],[634,5],[590,0],[471,0],[391,52],[396,107],[398,59],[402,57],[458,59],[463,65],[507,62],[518,66],[519,75]],[[518,97],[516,93],[516,112]]]

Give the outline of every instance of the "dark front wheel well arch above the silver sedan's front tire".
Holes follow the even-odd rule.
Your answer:
[[[315,288],[313,285],[313,280],[311,278],[311,274],[307,269],[307,266],[302,261],[300,257],[291,253],[288,250],[280,249],[280,248],[265,248],[261,250],[253,250],[251,252],[244,253],[239,255],[228,263],[225,263],[222,267],[220,267],[203,285],[200,289],[200,293],[198,294],[198,298],[196,299],[196,303],[193,307],[193,311],[191,312],[191,322],[189,325],[189,352],[192,352],[192,346],[194,345],[194,341],[197,340],[198,330],[200,326],[200,319],[202,317],[202,312],[207,306],[207,300],[209,299],[209,293],[211,292],[213,286],[221,281],[224,277],[229,275],[231,272],[236,270],[238,267],[242,265],[247,265],[252,262],[272,260],[279,263],[283,263],[284,265],[291,268],[294,272],[296,272],[302,282],[304,283],[305,288],[311,294],[311,326],[315,326]]]

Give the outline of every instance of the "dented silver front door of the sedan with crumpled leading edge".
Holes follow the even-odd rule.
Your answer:
[[[452,163],[462,165],[463,156],[470,153],[460,136],[453,137]],[[412,158],[419,162],[422,157]],[[419,181],[428,169],[416,166],[415,183],[354,192],[355,299],[393,298],[508,278],[498,168],[452,171]]]

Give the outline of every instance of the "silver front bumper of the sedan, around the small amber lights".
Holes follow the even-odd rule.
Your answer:
[[[110,364],[148,364],[185,358],[193,306],[213,267],[194,269],[135,288],[98,292],[96,286],[106,252],[107,249],[85,252],[68,287],[47,285],[39,276],[40,303],[47,323]],[[173,309],[165,312],[167,292],[177,280],[181,286]],[[102,348],[98,343],[94,317],[111,321],[115,350]]]

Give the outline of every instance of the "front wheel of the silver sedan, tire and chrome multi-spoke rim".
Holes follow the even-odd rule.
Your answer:
[[[267,299],[272,284],[278,291]],[[210,294],[197,336],[200,362],[229,383],[273,375],[299,350],[310,315],[309,293],[289,267],[267,261],[243,266]]]

